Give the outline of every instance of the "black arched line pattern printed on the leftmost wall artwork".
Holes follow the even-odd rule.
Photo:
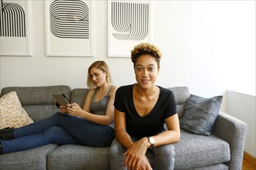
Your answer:
[[[1,0],[0,36],[26,37],[26,15],[23,8],[16,3]]]

